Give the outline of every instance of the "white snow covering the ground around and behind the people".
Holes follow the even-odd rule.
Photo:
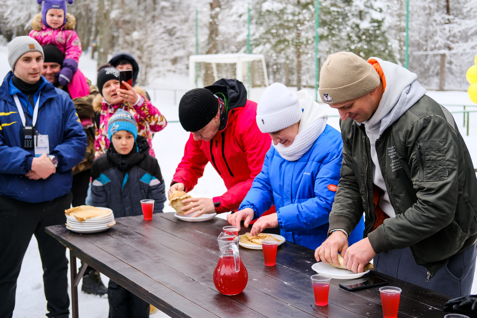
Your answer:
[[[7,48],[0,46],[0,60],[4,61],[0,64],[0,77],[4,76],[10,71],[7,63]],[[79,68],[92,82],[96,82],[96,61],[91,60],[89,55],[83,55],[80,59]],[[162,89],[162,90],[159,90]],[[180,162],[184,146],[189,137],[189,133],[182,129],[178,123],[178,103],[182,94],[189,89],[189,81],[187,76],[178,74],[168,74],[165,78],[154,80],[146,87],[147,92],[156,107],[166,116],[168,125],[166,128],[156,133],[153,140],[153,146],[156,152],[156,157],[161,167],[164,180],[166,182],[166,191],[169,183],[176,170],[177,164]],[[167,89],[167,90],[164,90]],[[174,89],[176,92],[174,92]],[[296,88],[290,87],[290,90],[296,91]],[[313,89],[307,89],[311,95],[314,94]],[[258,102],[263,88],[252,89],[250,99]],[[176,96],[174,97],[174,94]],[[462,105],[474,105],[470,107],[477,110],[477,105],[468,100],[467,92],[461,91],[428,91],[427,94],[434,98],[437,102],[444,104],[451,112],[462,111]],[[452,106],[458,105],[458,106]],[[332,109],[326,104],[321,104],[322,107],[330,114],[328,123],[339,130],[339,116],[338,111]],[[467,110],[469,107],[467,107]],[[477,113],[470,113],[470,121],[473,123],[469,126],[469,136],[467,134],[467,127],[463,126],[463,114],[454,113],[456,124],[459,127],[460,133],[469,148],[474,166],[477,167]],[[466,120],[467,121],[467,120]],[[194,197],[213,197],[221,195],[226,191],[222,179],[213,169],[211,164],[207,164],[204,176],[199,179],[196,187],[190,192]],[[164,212],[174,211],[172,207],[166,202]],[[220,215],[222,218],[224,215]],[[69,253],[67,253],[68,255]],[[79,262],[78,262],[79,263]],[[78,264],[78,267],[80,264]],[[13,312],[14,318],[41,318],[46,313],[46,300],[43,293],[42,269],[41,269],[40,254],[38,252],[38,245],[36,239],[32,237],[28,250],[23,259],[20,276],[18,278],[16,305]],[[69,274],[68,274],[69,275]],[[103,277],[103,282],[107,286],[108,278]],[[81,289],[81,283],[78,287]],[[477,275],[474,278],[474,285],[472,294],[477,293]],[[108,315],[108,300],[105,297],[96,297],[93,295],[83,294],[79,292],[79,311],[82,317],[91,318],[105,318]],[[168,317],[161,311],[151,315],[152,318],[166,318]]]

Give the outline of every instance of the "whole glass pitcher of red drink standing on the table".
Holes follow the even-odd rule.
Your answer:
[[[222,232],[217,238],[220,254],[214,269],[214,285],[223,295],[237,295],[247,286],[249,274],[239,255],[239,236]]]

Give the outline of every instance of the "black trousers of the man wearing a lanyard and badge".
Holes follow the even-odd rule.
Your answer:
[[[29,203],[0,195],[0,318],[10,318],[15,308],[21,262],[35,235],[43,267],[47,300],[46,316],[68,318],[68,260],[66,247],[45,233],[45,226],[66,222],[64,210],[71,205],[71,192],[51,201]]]

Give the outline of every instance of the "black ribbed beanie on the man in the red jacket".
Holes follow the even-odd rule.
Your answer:
[[[206,88],[195,88],[179,102],[179,121],[187,132],[197,132],[217,115],[218,100]]]

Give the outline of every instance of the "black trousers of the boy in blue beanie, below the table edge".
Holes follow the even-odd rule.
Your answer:
[[[109,280],[109,318],[148,318],[149,304],[126,288]]]

